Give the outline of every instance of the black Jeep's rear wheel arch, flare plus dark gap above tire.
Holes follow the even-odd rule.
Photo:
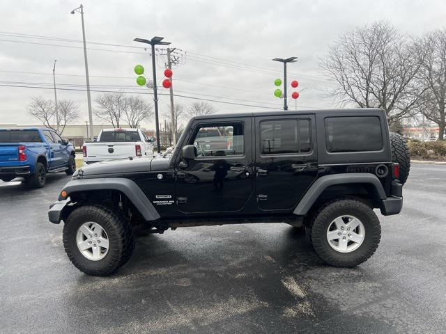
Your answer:
[[[372,201],[377,203],[387,198],[383,185],[374,174],[344,173],[324,175],[310,186],[299,204],[295,207],[293,214],[305,216],[314,209],[314,205],[321,202],[322,198],[330,196],[330,193],[335,193],[337,189],[342,189],[342,187],[344,189],[345,187],[350,188],[350,193],[341,191],[343,197],[364,194],[371,197]]]

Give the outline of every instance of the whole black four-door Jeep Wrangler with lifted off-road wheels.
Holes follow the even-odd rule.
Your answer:
[[[391,139],[393,138],[393,140]],[[169,159],[79,168],[49,209],[71,262],[105,276],[129,259],[133,228],[289,223],[321,259],[353,267],[398,214],[410,161],[380,109],[274,111],[192,118]]]

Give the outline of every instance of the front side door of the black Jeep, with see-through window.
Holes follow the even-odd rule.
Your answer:
[[[251,118],[197,120],[183,145],[197,157],[176,161],[178,209],[183,213],[238,212],[252,195]]]

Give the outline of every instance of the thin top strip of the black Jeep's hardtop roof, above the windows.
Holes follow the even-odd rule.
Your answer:
[[[192,120],[212,120],[217,118],[238,118],[238,117],[252,117],[252,116],[291,116],[291,115],[308,115],[316,113],[370,113],[371,111],[383,111],[378,108],[356,108],[356,109],[312,109],[312,110],[298,110],[298,111],[254,111],[252,113],[215,113],[213,115],[195,116]]]

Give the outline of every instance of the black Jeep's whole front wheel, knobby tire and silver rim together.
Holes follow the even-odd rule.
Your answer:
[[[92,276],[107,276],[132,255],[132,226],[121,212],[102,205],[79,207],[63,227],[63,246],[77,269]]]

